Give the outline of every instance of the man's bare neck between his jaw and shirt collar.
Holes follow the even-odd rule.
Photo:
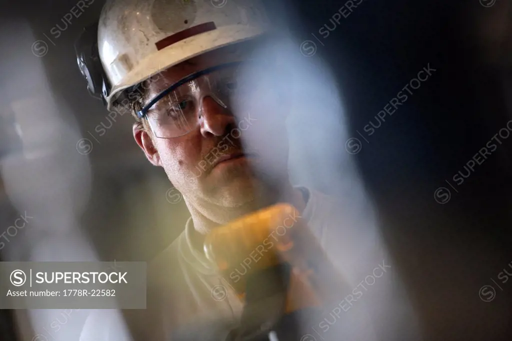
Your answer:
[[[239,209],[223,210],[220,207],[215,207],[210,210],[198,209],[194,205],[187,203],[192,222],[194,223],[195,233],[193,235],[192,243],[194,247],[200,251],[203,250],[202,245],[206,234],[212,229],[227,224],[229,221],[242,217],[250,212],[271,206],[278,202],[286,202],[293,205],[298,211],[303,212],[306,208],[307,198],[300,189],[294,188],[289,185],[285,191],[282,191],[279,196],[269,198],[265,203],[248,204],[247,206],[240,207]]]

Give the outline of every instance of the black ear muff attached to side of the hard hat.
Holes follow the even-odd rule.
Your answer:
[[[105,98],[110,93],[110,86],[99,58],[98,22],[83,28],[75,41],[75,52],[78,68],[87,81],[89,93],[106,104]]]

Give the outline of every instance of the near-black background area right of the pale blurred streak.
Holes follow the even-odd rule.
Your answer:
[[[284,7],[295,6],[304,39],[314,41],[311,32],[322,39],[314,57],[327,60],[342,84],[350,130],[375,122],[427,63],[437,70],[355,155],[424,339],[509,339],[510,290],[496,288],[492,302],[477,292],[504,268],[512,273],[511,140],[460,186],[452,177],[466,174],[463,166],[511,118],[510,2],[368,0],[325,39],[318,29],[333,27],[328,20],[344,2],[321,3]],[[450,189],[449,202],[434,200],[439,187]]]

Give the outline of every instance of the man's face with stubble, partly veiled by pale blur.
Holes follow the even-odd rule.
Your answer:
[[[241,47],[224,48],[161,72],[146,87],[144,104],[190,74],[245,60],[246,51]],[[156,137],[165,134],[157,131],[163,127],[154,132],[134,132],[136,140],[137,136],[141,141],[148,140],[147,143],[138,140],[146,156],[165,169],[169,180],[189,202],[226,208],[251,202],[260,206],[258,200],[276,190],[279,181],[287,179],[287,108],[271,91],[271,82],[258,78],[244,78],[244,83],[251,84],[247,88],[248,99],[228,108],[223,108],[211,96],[203,96],[199,103],[202,105],[199,124],[185,135]],[[165,100],[157,102],[153,114],[164,113],[168,109],[165,103]]]

